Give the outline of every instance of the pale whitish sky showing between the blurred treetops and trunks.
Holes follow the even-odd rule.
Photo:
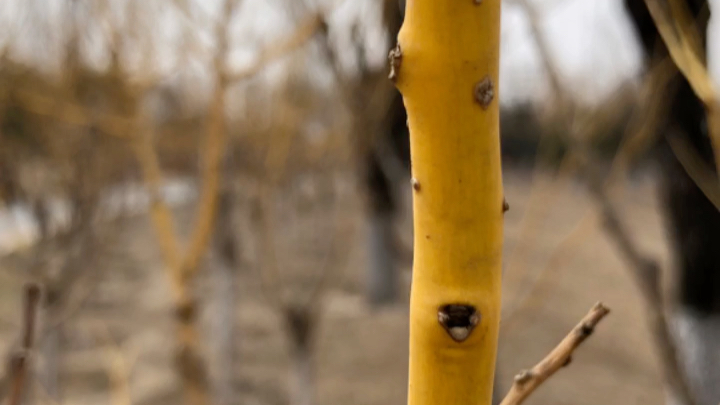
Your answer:
[[[33,21],[33,15],[42,16],[43,20],[49,22],[49,28],[45,30],[49,32],[41,39],[47,52],[41,52],[40,56],[52,55],[52,48],[57,47],[51,44],[59,41],[61,37],[57,34],[62,21],[58,16],[62,16],[60,11],[64,1],[67,0],[3,0],[0,4],[0,26],[16,27],[15,29],[21,27],[21,32],[37,31],[38,24],[29,22]],[[242,66],[250,63],[259,46],[292,32],[290,16],[283,9],[283,4],[293,1],[296,0],[243,1],[232,28],[234,46],[230,55],[231,64]],[[715,2],[712,0],[711,6],[714,6]],[[121,3],[123,2],[116,1],[113,5],[119,7],[117,5]],[[351,22],[360,21],[361,26],[365,27],[369,62],[386,63],[386,44],[378,24],[379,0],[315,0],[311,3],[323,3],[326,7],[333,3],[340,4],[330,18],[338,47],[349,41],[348,27]],[[562,73],[566,87],[572,89],[579,99],[601,99],[622,80],[637,75],[641,60],[621,0],[535,0],[534,3],[541,12],[542,26],[555,64]],[[160,4],[163,3],[146,2],[142,7],[147,9],[148,15],[154,16],[152,21],[146,23],[155,28],[162,43],[178,37],[180,17],[172,12],[158,13],[158,9],[162,7]],[[196,16],[206,16],[208,21],[219,12],[218,0],[195,0],[193,4],[193,13]],[[151,10],[152,8],[156,10]],[[33,12],[35,14],[29,14]],[[539,100],[547,85],[524,11],[518,6],[506,3],[502,18],[501,99],[504,103]],[[720,42],[712,40],[718,33],[715,25],[711,23],[709,33],[709,60],[714,76],[720,77],[717,74],[718,63],[715,63],[717,55],[720,54]],[[86,29],[97,32],[97,35],[92,35],[93,38],[102,37],[98,27],[88,24]],[[32,38],[26,35],[18,37]],[[204,30],[200,39],[211,47],[211,29]],[[37,59],[37,51],[27,52],[32,48],[27,42],[28,40],[19,41],[18,48],[26,50],[20,50],[19,54],[22,54],[23,58]],[[100,48],[96,46],[96,49]],[[157,60],[166,72],[176,71],[173,65],[176,58],[172,49],[169,46],[157,47]],[[274,66],[272,71],[274,74],[282,74],[282,68],[280,64]]]

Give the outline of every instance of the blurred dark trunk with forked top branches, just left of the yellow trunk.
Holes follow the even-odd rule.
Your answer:
[[[397,37],[402,12],[397,0],[383,2],[383,25],[389,43]],[[357,28],[357,26],[355,26]],[[367,66],[364,38],[352,28],[358,73],[343,72],[338,54],[331,44],[328,31],[323,32],[322,46],[333,69],[340,97],[352,116],[350,127],[354,157],[363,193],[368,197],[367,241],[369,259],[366,272],[366,296],[373,306],[393,303],[398,298],[398,274],[395,260],[396,235],[393,221],[398,210],[396,184],[391,180],[405,177],[403,165],[393,147],[407,144],[405,110],[402,98],[387,80],[387,69]],[[400,124],[400,125],[398,125]],[[388,139],[391,142],[388,142]],[[399,141],[399,142],[397,142]],[[400,146],[400,149],[407,147]],[[409,163],[409,162],[407,162]]]

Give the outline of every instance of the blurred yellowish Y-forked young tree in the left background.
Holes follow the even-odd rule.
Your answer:
[[[141,129],[141,136],[136,142],[136,154],[152,196],[151,217],[160,242],[166,271],[173,286],[175,316],[178,322],[178,348],[175,361],[183,380],[185,400],[191,405],[210,403],[208,375],[195,322],[197,305],[192,297],[190,280],[197,273],[199,262],[207,250],[217,211],[220,165],[227,137],[225,123],[227,81],[224,72],[228,50],[228,27],[235,5],[235,0],[225,0],[222,18],[215,30],[218,41],[218,48],[213,58],[215,85],[201,151],[200,201],[185,254],[180,251],[172,212],[159,196],[163,179],[158,154],[153,145],[152,128],[149,123],[144,122],[145,117],[141,113],[136,113],[137,127]]]

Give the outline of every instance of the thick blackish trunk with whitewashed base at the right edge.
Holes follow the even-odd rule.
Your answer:
[[[672,2],[671,2],[672,3]],[[710,18],[706,0],[682,0],[699,33],[701,60],[707,52]],[[643,0],[625,0],[650,65],[668,57],[668,51]],[[695,405],[720,402],[720,212],[689,176],[668,138],[678,138],[696,152],[695,164],[708,172],[715,167],[708,120],[702,102],[688,81],[677,75],[672,83],[669,114],[662,131],[657,162],[660,199],[670,235],[678,304],[670,317],[680,363],[697,400]],[[668,387],[668,403],[687,405]]]

